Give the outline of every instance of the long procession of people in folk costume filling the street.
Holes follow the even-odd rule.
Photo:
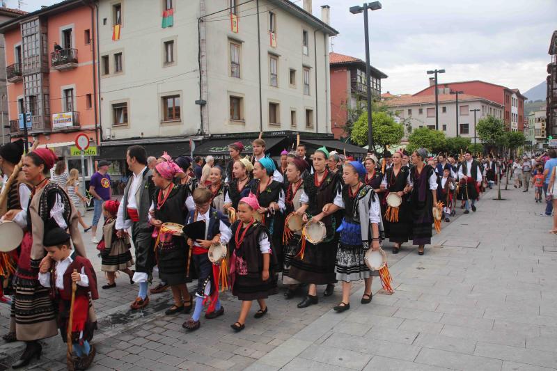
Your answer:
[[[386,151],[381,161],[372,154],[356,161],[324,147],[309,156],[299,145],[296,152],[283,151],[277,164],[265,155],[264,140],[254,140],[252,147],[253,155],[246,157],[241,142],[231,143],[226,166],[207,159],[203,169],[185,155],[165,153],[151,161],[142,146],[128,148],[132,175],[123,199],[102,204],[97,249],[108,281],[102,289],[115,287],[116,272],[124,272],[139,285],[130,305],[139,310],[148,306],[149,294],[170,288],[173,305],[166,315],[187,313],[186,331],[200,328],[204,308],[206,319],[223,315],[219,292],[227,287],[242,301],[237,322],[231,324],[242,331],[253,300],[258,301],[254,317],[268,313],[265,299],[277,294],[279,273],[285,299],[303,298],[298,308],[319,301],[317,286],[324,286],[328,297],[342,282],[342,299],[334,310],[343,312],[350,309],[354,281],[365,283],[361,303],[372,300],[372,277],[379,273],[366,264],[367,251],[378,251],[389,239],[392,252],[398,253],[412,240],[423,255],[434,219],[439,219],[436,210],[446,222],[456,200],[462,201],[464,213],[475,212],[483,184],[491,187],[496,174],[505,171],[504,161],[487,157],[478,162],[468,151],[459,159],[430,158],[424,148]],[[3,286],[12,295],[10,331],[3,338],[26,342],[13,365],[20,368],[40,356],[38,340],[55,336],[58,328],[70,341],[66,329],[72,318],[74,363],[86,369],[95,356],[90,341],[96,329],[92,299],[98,291],[77,227],[79,212],[49,180],[54,152],[38,148],[22,155],[22,143],[0,148],[6,179],[22,158],[22,171],[9,184],[3,220],[25,231],[17,251],[2,253]],[[322,237],[307,243],[303,230],[288,228],[294,216],[324,226]],[[185,235],[175,226],[185,226]],[[217,245],[228,246],[220,264],[208,253]],[[160,282],[149,290],[155,267]],[[194,280],[197,287],[190,293],[187,283]],[[77,283],[73,291],[72,283]]]

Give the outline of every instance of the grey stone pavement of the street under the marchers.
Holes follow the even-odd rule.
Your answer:
[[[200,330],[185,333],[187,315],[164,315],[168,292],[152,296],[146,310],[131,312],[136,285],[123,275],[116,289],[101,290],[95,301],[100,330],[91,370],[557,368],[557,239],[547,233],[551,219],[538,216],[542,205],[533,202],[532,191],[502,194],[508,200],[492,200],[494,191],[485,194],[474,214],[458,210],[461,216],[444,223],[425,255],[404,247],[398,255],[389,253],[395,294],[377,294],[376,280],[372,303],[362,306],[363,286],[355,285],[352,308],[342,314],[331,310],[340,285],[329,298],[321,288],[320,303],[303,310],[296,308],[301,297],[286,301],[281,291],[269,299],[268,315],[249,317],[246,329],[234,333],[230,324],[240,303],[226,293],[225,315],[202,317]],[[91,244],[88,254],[98,267]],[[0,307],[2,331],[8,313]],[[43,356],[30,369],[65,368],[61,339],[42,344]],[[0,340],[0,370],[23,347]]]

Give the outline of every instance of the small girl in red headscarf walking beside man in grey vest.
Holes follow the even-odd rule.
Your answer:
[[[130,276],[130,285],[134,284],[134,271],[130,269],[134,265],[134,259],[130,252],[130,237],[118,237],[116,234],[116,214],[118,213],[120,202],[108,200],[102,204],[104,214],[104,226],[102,227],[102,239],[97,245],[100,251],[101,271],[107,272],[107,285],[102,289],[107,290],[116,287],[116,272],[123,271]]]

